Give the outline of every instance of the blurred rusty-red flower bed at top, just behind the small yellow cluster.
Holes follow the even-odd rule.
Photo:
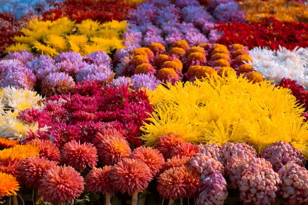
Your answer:
[[[103,23],[123,21],[134,8],[135,6],[125,0],[65,0],[56,8],[45,11],[42,16],[45,21],[67,17],[77,23],[86,19]]]

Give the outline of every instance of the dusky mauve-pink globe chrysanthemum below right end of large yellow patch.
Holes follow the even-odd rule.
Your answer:
[[[260,157],[271,162],[275,172],[278,172],[278,170],[289,161],[293,161],[300,166],[306,164],[302,151],[296,149],[293,145],[282,141],[271,146],[266,146],[260,153]]]

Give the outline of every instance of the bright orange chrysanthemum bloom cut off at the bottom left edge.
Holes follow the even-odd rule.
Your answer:
[[[0,173],[0,199],[4,196],[16,195],[19,190],[19,184],[12,175]]]

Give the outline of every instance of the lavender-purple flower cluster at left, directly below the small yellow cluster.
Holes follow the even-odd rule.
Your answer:
[[[0,86],[28,89],[36,86],[46,96],[66,94],[77,82],[111,82],[114,73],[110,63],[109,56],[100,51],[84,57],[75,52],[63,52],[55,59],[46,55],[37,58],[28,51],[9,53],[0,61]]]

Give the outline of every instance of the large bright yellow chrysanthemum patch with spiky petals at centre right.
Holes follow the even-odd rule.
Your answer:
[[[148,146],[173,132],[192,143],[246,142],[259,152],[282,140],[307,153],[304,109],[296,105],[289,89],[269,82],[253,84],[229,73],[227,77],[208,75],[194,83],[159,85],[147,93],[154,106],[149,123],[141,128]]]

